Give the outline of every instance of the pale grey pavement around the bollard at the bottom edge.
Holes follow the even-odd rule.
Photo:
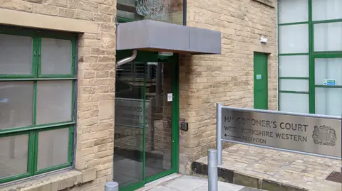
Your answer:
[[[257,191],[258,189],[218,182],[217,191]],[[166,178],[151,182],[138,191],[207,191],[208,180],[190,175],[170,175]],[[259,190],[260,191],[260,190]]]

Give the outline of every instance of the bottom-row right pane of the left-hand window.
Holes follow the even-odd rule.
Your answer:
[[[68,163],[69,129],[38,133],[37,170]]]

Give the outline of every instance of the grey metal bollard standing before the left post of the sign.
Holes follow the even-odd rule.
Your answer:
[[[217,150],[208,150],[208,191],[217,191]]]

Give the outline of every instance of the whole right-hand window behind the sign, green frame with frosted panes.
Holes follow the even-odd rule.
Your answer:
[[[342,113],[342,1],[278,1],[279,110]]]

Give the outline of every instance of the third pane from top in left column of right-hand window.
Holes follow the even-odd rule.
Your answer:
[[[309,55],[279,56],[279,77],[309,77]]]

